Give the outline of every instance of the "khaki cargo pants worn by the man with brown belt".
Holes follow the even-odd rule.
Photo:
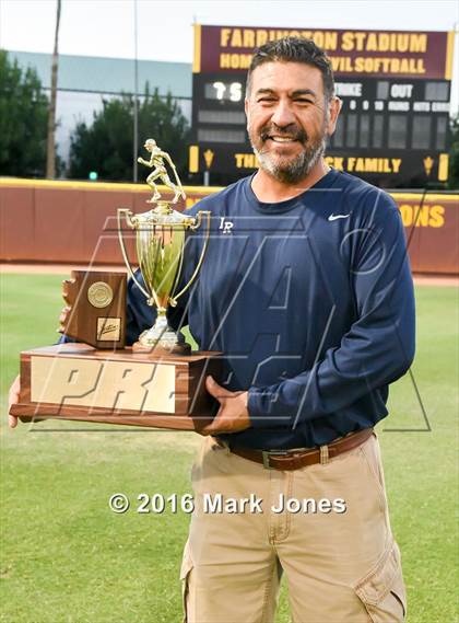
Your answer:
[[[294,623],[404,621],[376,435],[293,472],[266,470],[209,437],[192,485],[181,565],[187,623],[272,622],[282,572]],[[283,511],[282,498],[291,500]]]

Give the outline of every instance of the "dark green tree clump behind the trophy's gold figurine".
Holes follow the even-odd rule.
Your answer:
[[[91,171],[96,171],[103,180],[132,180],[133,105],[128,94],[103,100],[103,109],[94,113],[92,126],[78,124],[71,137],[69,177],[87,178]],[[151,94],[146,86],[139,103],[139,145],[154,138],[184,175],[188,135],[188,122],[170,93],[163,99],[157,90]]]

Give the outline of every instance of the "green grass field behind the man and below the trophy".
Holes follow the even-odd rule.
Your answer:
[[[107,431],[83,423],[20,424],[9,430],[7,390],[19,351],[56,341],[62,277],[1,279],[0,621],[180,621],[178,572],[189,516],[132,509],[116,515],[107,501],[116,492],[134,507],[142,492],[189,493],[200,438],[121,427]],[[391,416],[379,426],[379,438],[409,621],[452,623],[458,621],[458,289],[423,286],[416,298],[412,372],[432,430],[426,431],[407,376],[392,387]],[[284,588],[276,622],[287,621]]]

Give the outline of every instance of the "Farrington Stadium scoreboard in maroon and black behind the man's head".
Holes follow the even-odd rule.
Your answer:
[[[190,173],[227,184],[257,168],[246,131],[245,82],[254,48],[313,38],[331,61],[343,105],[327,162],[382,187],[448,177],[454,32],[195,26]]]

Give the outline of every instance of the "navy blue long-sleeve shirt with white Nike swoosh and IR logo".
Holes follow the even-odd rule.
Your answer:
[[[302,195],[260,203],[251,177],[205,197],[211,239],[196,285],[169,321],[221,350],[219,381],[248,390],[251,427],[236,446],[328,443],[387,415],[388,384],[414,356],[414,297],[399,210],[389,195],[331,170]],[[188,236],[184,282],[203,230]],[[152,323],[134,284],[128,335]]]

